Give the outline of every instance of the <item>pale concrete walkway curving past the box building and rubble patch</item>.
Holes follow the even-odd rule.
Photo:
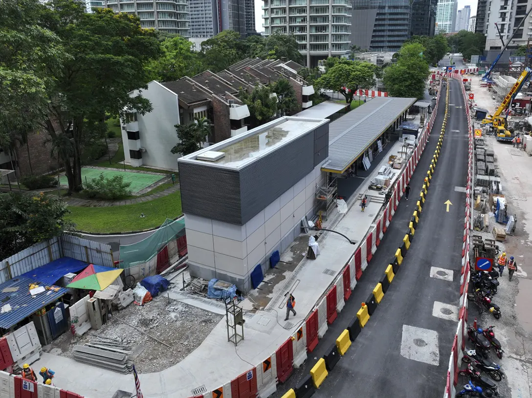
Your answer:
[[[390,150],[390,154],[398,153],[400,147],[401,143],[397,142]],[[384,164],[386,160],[381,163]],[[379,168],[376,167],[375,173],[368,177],[368,182],[378,173]],[[365,187],[367,184],[363,184],[360,189],[365,190]],[[345,215],[334,217],[337,219],[334,230],[361,242],[372,227],[382,204],[370,201],[365,213],[362,213],[355,205],[358,203],[358,200],[354,199],[356,197],[358,193],[355,193],[350,200],[348,204],[350,210]],[[276,286],[270,303],[271,309],[257,311],[251,318],[246,317],[246,337],[238,344],[238,348],[227,341],[226,324],[225,320],[222,320],[187,358],[160,372],[140,375],[144,396],[186,398],[193,395],[191,391],[200,386],[205,386],[206,391],[212,391],[236,375],[261,363],[295,332],[305,316],[314,309],[330,283],[353,255],[356,247],[357,245],[346,243],[342,236],[326,233],[320,239],[321,255],[316,260],[303,259],[290,273],[299,281],[295,291],[298,300],[296,317],[290,318],[289,323],[283,321],[282,309],[278,315],[279,309],[277,305],[273,305],[273,302],[281,300],[284,293],[292,287],[291,278],[287,275],[286,282]],[[281,260],[289,261],[287,256],[290,256],[289,251],[281,256]],[[190,300],[184,302],[190,303]],[[221,361],[223,366],[220,366]],[[49,353],[43,353],[41,359],[32,366],[34,368],[47,366],[54,369],[56,371],[54,383],[57,386],[90,398],[109,398],[118,389],[135,391],[132,375],[105,372]],[[98,380],[98,383],[94,383],[94,380]]]

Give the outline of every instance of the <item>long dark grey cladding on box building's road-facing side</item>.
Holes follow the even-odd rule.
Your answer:
[[[281,196],[314,168],[311,131],[240,171],[242,224]]]

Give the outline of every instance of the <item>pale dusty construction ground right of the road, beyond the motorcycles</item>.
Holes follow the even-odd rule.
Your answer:
[[[473,77],[471,92],[475,94],[475,102],[479,107],[488,109],[493,114],[498,102],[492,98],[487,88],[480,87],[481,77]],[[475,122],[480,127],[478,121]],[[493,301],[501,307],[502,317],[493,318],[489,312],[478,317],[479,326],[495,325],[495,333],[504,349],[501,360],[494,359],[501,365],[508,376],[500,384],[501,396],[512,398],[532,397],[532,180],[530,169],[532,158],[525,151],[516,149],[512,143],[497,142],[495,137],[484,137],[486,148],[492,148],[495,153],[495,170],[501,177],[502,193],[508,206],[508,215],[517,215],[517,226],[514,235],[506,235],[504,242],[497,242],[501,252],[514,256],[518,270],[512,281],[508,280],[508,270],[504,270],[499,278],[500,286]],[[475,210],[473,215],[479,212]],[[473,231],[473,234],[483,235],[493,239],[491,230],[494,226],[504,227],[489,217],[487,232]],[[469,303],[471,322],[477,316],[477,308]],[[465,382],[465,380],[463,380]],[[507,384],[506,384],[507,383]]]

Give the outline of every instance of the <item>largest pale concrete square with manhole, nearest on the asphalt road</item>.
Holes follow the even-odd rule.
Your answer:
[[[413,361],[439,365],[438,332],[403,325],[401,355]]]

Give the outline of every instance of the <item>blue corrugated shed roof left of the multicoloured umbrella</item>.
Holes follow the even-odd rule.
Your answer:
[[[84,263],[85,266],[87,264]],[[52,285],[52,283],[45,284],[41,282],[36,278],[28,278],[21,275],[0,284],[0,307],[7,310],[7,304],[11,306],[11,310],[0,314],[1,328],[9,329],[39,309],[55,302],[65,293],[68,293],[68,289],[61,287],[56,292],[48,290],[37,294],[35,297],[31,297],[29,291],[30,284],[37,283],[39,286]]]

